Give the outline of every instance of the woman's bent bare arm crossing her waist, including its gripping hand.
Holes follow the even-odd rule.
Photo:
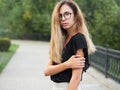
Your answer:
[[[49,75],[57,74],[68,68],[83,68],[84,65],[80,66],[80,64],[84,63],[84,62],[85,62],[85,58],[80,57],[79,55],[73,55],[66,62],[57,64],[57,65],[52,65],[52,60],[49,60],[47,66],[44,70],[44,74],[45,74],[45,76],[49,76]]]

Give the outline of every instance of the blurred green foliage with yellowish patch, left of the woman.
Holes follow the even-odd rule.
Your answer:
[[[50,35],[51,13],[56,0],[1,0],[0,26],[14,33]],[[4,12],[6,11],[6,12]]]

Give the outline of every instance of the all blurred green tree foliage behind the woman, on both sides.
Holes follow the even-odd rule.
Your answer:
[[[59,0],[0,0],[2,32],[50,36],[51,14]],[[96,45],[120,50],[120,0],[75,0]]]

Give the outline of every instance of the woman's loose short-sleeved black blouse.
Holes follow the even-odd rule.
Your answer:
[[[75,55],[78,49],[83,49],[84,57],[86,60],[83,71],[86,71],[89,67],[88,48],[85,37],[80,33],[77,33],[74,36],[72,36],[70,41],[63,48],[62,63],[68,60],[72,55]],[[53,64],[56,65],[57,63],[53,62]],[[51,80],[56,83],[69,82],[71,76],[72,76],[72,69],[67,69],[58,74],[51,75]]]

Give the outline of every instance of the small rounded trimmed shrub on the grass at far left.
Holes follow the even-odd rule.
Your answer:
[[[0,38],[0,51],[8,51],[11,45],[9,38]]]

